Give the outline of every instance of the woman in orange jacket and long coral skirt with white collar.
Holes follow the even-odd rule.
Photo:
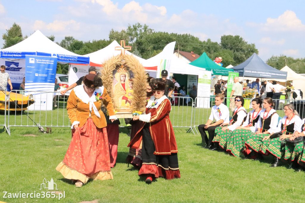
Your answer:
[[[72,140],[65,158],[56,170],[65,178],[76,180],[76,187],[81,187],[90,178],[113,179],[102,103],[113,122],[117,118],[111,98],[102,86],[102,80],[95,74],[86,75],[83,84],[71,91],[67,101],[67,112],[72,123]]]

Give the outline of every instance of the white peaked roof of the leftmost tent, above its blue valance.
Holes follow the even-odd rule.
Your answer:
[[[79,56],[83,58],[82,55],[75,54],[70,52],[61,46],[57,45],[55,42],[51,41],[43,35],[39,30],[34,32],[30,37],[26,38],[25,40],[19,42],[16,45],[11,47],[1,49],[1,52],[42,52],[48,54],[61,54],[61,55],[69,55],[69,56]],[[5,58],[5,57],[2,57]]]

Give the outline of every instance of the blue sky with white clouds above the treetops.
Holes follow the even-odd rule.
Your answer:
[[[304,8],[303,0],[0,0],[0,33],[16,22],[23,35],[40,30],[58,42],[65,36],[92,41],[108,39],[112,28],[139,22],[200,40],[220,42],[224,34],[240,35],[255,43],[263,60],[280,54],[304,58]]]

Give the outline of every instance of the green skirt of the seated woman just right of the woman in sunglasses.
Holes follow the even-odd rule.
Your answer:
[[[227,151],[233,156],[244,157],[244,146],[246,141],[254,133],[251,130],[238,129],[233,130],[228,138]]]

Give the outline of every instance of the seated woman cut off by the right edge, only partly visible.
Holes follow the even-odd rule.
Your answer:
[[[304,137],[305,137],[305,119],[302,120],[302,127],[301,127],[301,131],[296,131],[292,137],[289,138],[289,140],[295,140],[295,139],[299,139],[298,143],[296,143],[294,149],[293,149],[293,153],[291,156],[291,161],[294,161],[294,163],[298,163],[295,164],[294,168],[297,172],[301,171],[302,169],[305,168],[305,154],[304,154]],[[286,144],[287,145],[287,144]],[[300,168],[301,166],[301,168]]]

